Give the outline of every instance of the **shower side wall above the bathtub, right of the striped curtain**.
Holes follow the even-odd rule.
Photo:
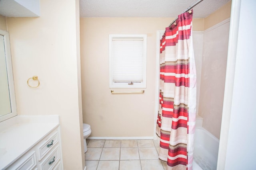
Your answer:
[[[231,2],[228,2],[204,19],[204,28],[207,29],[204,31],[198,115],[204,119],[203,127],[218,139],[220,138],[230,25],[227,15],[224,14],[229,13],[230,17],[230,10]],[[214,24],[216,21],[219,23]]]

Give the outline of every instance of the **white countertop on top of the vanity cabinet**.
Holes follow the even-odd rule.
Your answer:
[[[18,115],[0,122],[0,169],[7,168],[58,125],[58,115]]]

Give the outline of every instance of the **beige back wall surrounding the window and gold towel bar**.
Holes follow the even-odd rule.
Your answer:
[[[80,18],[83,119],[90,137],[153,137],[155,129],[156,31],[174,18]],[[203,20],[193,20],[194,31]],[[144,94],[111,94],[108,35],[147,34],[147,87]],[[141,89],[113,89],[140,91]]]

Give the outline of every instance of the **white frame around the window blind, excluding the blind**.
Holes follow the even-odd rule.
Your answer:
[[[143,49],[142,49],[142,82],[132,82],[133,84],[128,84],[129,82],[113,82],[112,76],[112,41],[113,39],[131,39],[138,38],[143,39]],[[146,88],[146,66],[147,66],[147,35],[146,34],[110,34],[109,35],[109,88]]]

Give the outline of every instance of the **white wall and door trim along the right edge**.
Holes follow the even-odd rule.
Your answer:
[[[254,170],[255,33],[254,0],[233,0],[227,79],[220,137],[218,170]],[[248,29],[251,28],[251,29]]]

